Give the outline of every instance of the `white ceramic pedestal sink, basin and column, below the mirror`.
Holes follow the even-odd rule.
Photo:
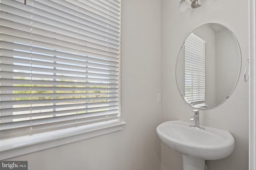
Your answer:
[[[185,121],[167,121],[156,128],[161,141],[182,153],[183,170],[204,170],[205,160],[222,159],[234,150],[234,137],[225,130],[202,126],[194,129]]]

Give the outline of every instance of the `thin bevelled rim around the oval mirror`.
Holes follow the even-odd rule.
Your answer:
[[[217,24],[217,25],[220,25],[220,26],[226,28],[226,29],[233,35],[233,37],[234,37],[234,39],[235,39],[235,41],[236,41],[236,43],[237,43],[237,46],[238,46],[238,51],[239,51],[238,55],[240,55],[240,65],[239,65],[239,72],[238,72],[238,75],[237,75],[237,78],[236,78],[236,83],[234,84],[234,87],[232,88],[232,90],[231,90],[231,92],[228,94],[228,96],[227,96],[222,102],[220,102],[219,104],[216,104],[216,106],[210,107],[210,108],[204,108],[204,107],[195,106],[195,105],[193,105],[193,104],[187,102],[187,100],[186,100],[184,94],[182,94],[182,91],[180,90],[180,88],[179,88],[179,86],[178,86],[178,80],[177,80],[177,64],[178,64],[178,59],[179,59],[180,51],[182,50],[182,47],[184,46],[185,41],[186,41],[186,39],[188,38],[188,36],[189,36],[191,33],[193,33],[196,29],[198,29],[199,27],[201,27],[201,26],[203,26],[203,25],[210,25],[210,24]],[[242,53],[241,53],[240,44],[239,44],[239,42],[238,42],[236,36],[234,35],[234,33],[233,33],[228,27],[226,27],[226,25],[223,25],[223,24],[220,24],[220,23],[213,23],[213,22],[211,22],[211,23],[204,23],[204,24],[202,24],[202,25],[196,27],[195,29],[193,29],[193,31],[191,31],[191,32],[188,34],[188,36],[186,36],[186,39],[183,41],[183,43],[182,43],[182,45],[181,45],[181,47],[180,47],[179,53],[178,53],[177,60],[176,60],[176,66],[175,66],[176,85],[177,85],[177,87],[178,87],[178,90],[179,90],[180,95],[182,96],[183,100],[184,100],[188,105],[190,105],[191,107],[196,108],[196,109],[202,109],[202,110],[214,109],[215,107],[218,107],[218,106],[220,106],[221,104],[223,104],[223,103],[230,97],[230,95],[232,94],[232,92],[233,92],[234,89],[236,88],[236,85],[238,84],[238,80],[239,80],[239,77],[240,77],[240,74],[241,74],[241,68],[242,68]]]

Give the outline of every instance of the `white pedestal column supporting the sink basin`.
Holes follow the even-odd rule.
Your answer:
[[[182,154],[183,170],[204,170],[205,160]]]

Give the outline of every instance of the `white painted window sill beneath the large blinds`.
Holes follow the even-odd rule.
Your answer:
[[[48,149],[123,129],[123,121],[113,120],[56,131],[0,140],[0,160]]]

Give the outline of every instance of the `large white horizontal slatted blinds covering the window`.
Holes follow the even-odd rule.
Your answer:
[[[0,2],[0,138],[120,119],[120,0]]]

